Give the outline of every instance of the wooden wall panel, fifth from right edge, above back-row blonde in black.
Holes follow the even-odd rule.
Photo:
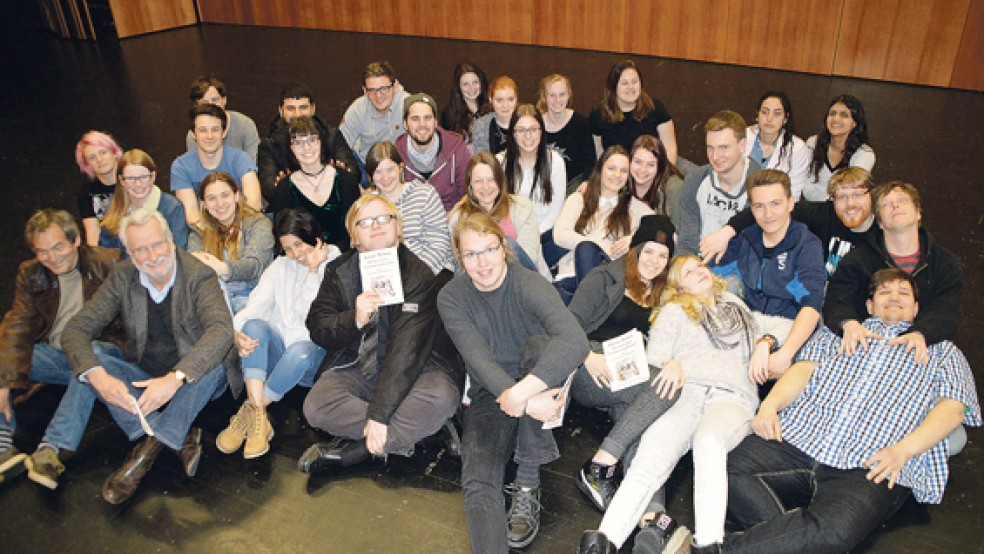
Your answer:
[[[533,6],[533,43],[625,52],[626,0],[540,0]]]

